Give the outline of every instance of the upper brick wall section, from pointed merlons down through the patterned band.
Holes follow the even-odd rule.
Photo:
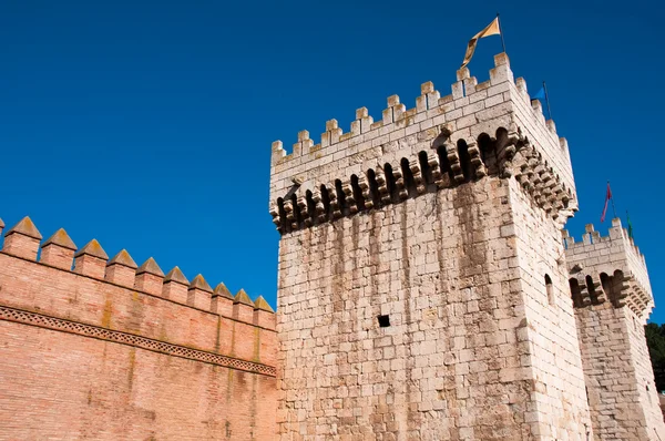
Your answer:
[[[4,235],[2,319],[275,376],[275,312],[263,297],[213,289],[201,274],[190,281],[177,266],[164,275],[152,257],[139,266],[126,249],[109,258],[95,239],[79,248],[63,228],[41,240],[29,217]]]

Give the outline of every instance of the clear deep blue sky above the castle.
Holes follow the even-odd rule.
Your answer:
[[[509,2],[504,2],[509,3]],[[605,182],[631,212],[665,321],[663,7],[597,2],[31,1],[0,7],[0,217],[126,248],[275,305],[270,143],[380,117],[420,84],[450,93],[471,35],[500,10],[513,72],[548,81],[581,211]],[[498,37],[470,64],[488,79]],[[600,227],[606,233],[608,222]]]

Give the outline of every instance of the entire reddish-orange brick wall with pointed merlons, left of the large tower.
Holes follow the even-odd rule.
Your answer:
[[[105,260],[96,242],[72,271],[64,230],[35,261],[40,239],[25,218],[0,252],[0,439],[274,438],[265,300],[126,252]]]

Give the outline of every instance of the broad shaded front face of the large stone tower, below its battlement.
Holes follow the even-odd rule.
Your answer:
[[[502,353],[499,341],[485,341],[494,311],[519,302],[500,269],[513,257],[500,217],[481,224],[494,209],[508,212],[500,184],[427,194],[283,237],[283,439],[520,432],[519,422],[504,422],[511,404],[528,401],[525,388],[515,382],[514,403],[501,402],[504,388],[492,390],[500,371],[520,367],[516,336],[507,332]],[[484,239],[488,229],[493,242]],[[490,278],[498,287],[491,295]],[[380,327],[379,316],[390,326]],[[507,329],[519,321],[501,319]]]

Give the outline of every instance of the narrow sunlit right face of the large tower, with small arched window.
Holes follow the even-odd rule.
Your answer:
[[[529,193],[512,196],[525,309],[520,337],[534,388],[528,416],[541,423],[544,439],[586,440],[592,427],[560,226],[533,207]]]

